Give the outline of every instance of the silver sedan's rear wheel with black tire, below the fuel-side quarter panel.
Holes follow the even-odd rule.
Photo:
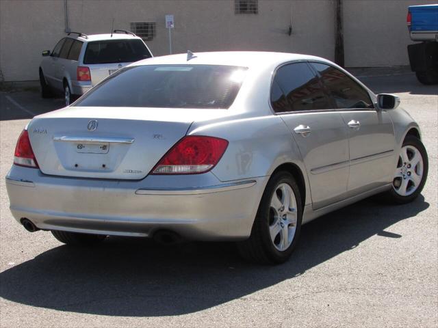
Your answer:
[[[287,210],[288,202],[283,201],[287,199],[283,197],[285,191],[292,192],[292,196],[289,197],[289,210]],[[274,200],[274,197],[278,202]],[[278,172],[266,185],[250,237],[246,241],[237,243],[237,249],[240,255],[249,262],[283,263],[291,256],[298,244],[301,222],[302,203],[298,184],[288,172]],[[279,232],[276,233],[277,230]],[[270,232],[274,237],[271,237]],[[285,234],[287,234],[287,239]]]

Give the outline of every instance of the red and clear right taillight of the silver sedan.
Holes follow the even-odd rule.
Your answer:
[[[208,172],[220,160],[228,141],[216,137],[188,135],[163,156],[152,174],[200,174]]]

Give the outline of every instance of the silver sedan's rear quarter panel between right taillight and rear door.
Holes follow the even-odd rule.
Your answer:
[[[229,141],[222,159],[211,171],[221,181],[270,176],[280,165],[293,163],[305,177],[306,195],[310,195],[300,152],[279,116],[240,118],[201,126],[194,123],[188,135],[211,135]]]

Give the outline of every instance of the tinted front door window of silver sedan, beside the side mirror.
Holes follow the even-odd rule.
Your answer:
[[[326,64],[312,63],[312,65],[320,73],[337,108],[374,108],[368,92],[344,72]]]

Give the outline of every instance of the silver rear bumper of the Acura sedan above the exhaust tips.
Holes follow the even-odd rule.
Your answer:
[[[25,217],[42,230],[152,236],[166,229],[188,239],[218,241],[249,236],[267,181],[220,182],[211,173],[79,179],[14,165],[6,187],[15,219]]]

